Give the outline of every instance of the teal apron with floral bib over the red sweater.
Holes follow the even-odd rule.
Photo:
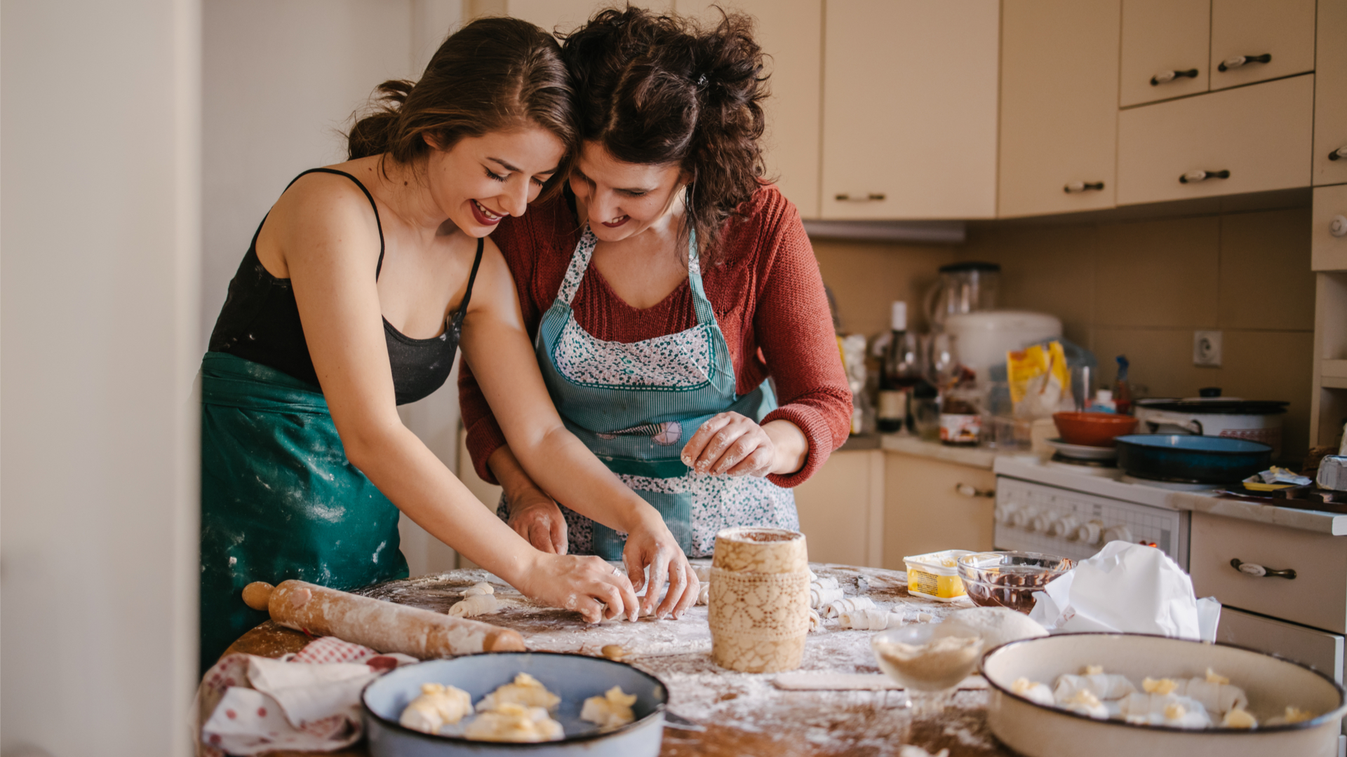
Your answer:
[[[748,395],[734,393],[734,364],[702,287],[695,238],[688,240],[687,279],[696,326],[633,343],[594,338],[575,322],[571,300],[595,244],[586,225],[537,330],[539,366],[566,427],[664,516],[688,556],[710,555],[715,533],[733,525],[797,529],[789,489],[756,475],[695,473],[679,457],[717,414],[761,422],[776,409],[766,381]],[[625,535],[570,511],[566,516],[572,552],[622,558]]]

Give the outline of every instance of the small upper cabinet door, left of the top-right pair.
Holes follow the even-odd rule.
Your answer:
[[[1207,92],[1210,58],[1211,0],[1122,0],[1121,106]]]

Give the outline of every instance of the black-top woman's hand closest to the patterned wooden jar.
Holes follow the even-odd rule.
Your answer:
[[[664,519],[655,508],[645,508],[643,519],[637,525],[630,527],[626,536],[626,546],[622,548],[622,564],[626,566],[626,575],[632,579],[632,586],[638,591],[645,587],[645,597],[641,598],[641,614],[655,614],[664,620],[669,614],[675,618],[696,603],[699,585],[692,566],[687,562],[687,555],[678,546],[674,533],[669,532]],[[648,572],[647,572],[648,571]],[[649,577],[649,581],[647,581]],[[668,582],[668,591],[660,602],[660,590]],[[659,602],[659,606],[656,606]]]

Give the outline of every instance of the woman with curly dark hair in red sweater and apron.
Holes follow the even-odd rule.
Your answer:
[[[609,9],[563,58],[581,108],[567,191],[493,237],[552,400],[687,555],[731,525],[797,528],[791,486],[846,440],[851,395],[799,213],[762,179],[752,20]],[[620,554],[622,533],[520,470],[470,372],[459,392],[498,515],[540,550]]]

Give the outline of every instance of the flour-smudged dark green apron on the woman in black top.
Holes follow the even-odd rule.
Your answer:
[[[201,364],[201,668],[268,618],[253,581],[407,577],[397,508],[346,459],[321,391],[224,353]]]

